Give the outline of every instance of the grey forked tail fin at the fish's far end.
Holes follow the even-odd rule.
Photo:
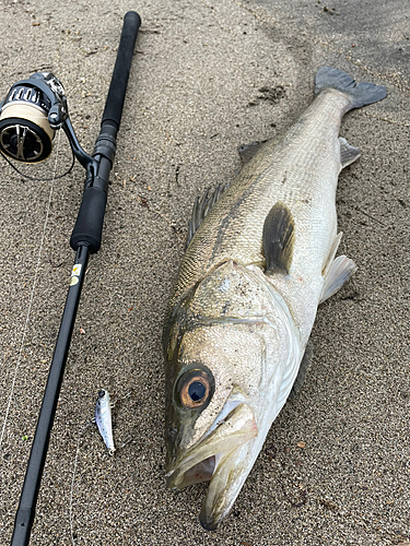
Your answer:
[[[325,88],[338,90],[348,94],[351,98],[352,108],[360,108],[367,104],[377,103],[386,97],[387,92],[384,85],[376,85],[370,82],[356,83],[353,78],[342,70],[330,67],[321,67],[316,74],[315,94]]]

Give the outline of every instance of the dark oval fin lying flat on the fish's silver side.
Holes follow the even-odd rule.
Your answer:
[[[263,225],[262,245],[267,274],[289,273],[294,238],[292,214],[285,204],[278,202],[270,210]]]

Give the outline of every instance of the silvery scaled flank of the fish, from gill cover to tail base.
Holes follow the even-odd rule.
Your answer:
[[[317,252],[320,262],[326,260],[336,235],[336,213],[331,213],[335,211],[340,162],[335,153],[335,142],[338,143],[347,103],[341,93],[323,94],[305,112],[305,121],[296,123],[280,147],[272,141],[260,150],[199,227],[184,257],[177,293],[188,289],[213,263],[224,259],[234,257],[246,264],[263,262],[260,244],[263,221],[276,201],[283,201],[295,210],[294,215],[298,218],[294,268],[301,257],[303,270],[306,271],[306,248],[311,256]],[[329,118],[335,120],[331,128],[317,135],[316,128],[324,126],[324,121]],[[277,147],[274,158],[271,157],[273,147]],[[331,166],[333,168],[329,173]],[[246,192],[248,194],[243,199]],[[311,206],[305,206],[305,200],[311,201]],[[233,207],[239,212],[234,214]],[[323,210],[326,216],[320,214]],[[321,217],[326,221],[325,226]],[[316,223],[316,229],[306,229],[306,226],[312,226],[312,222]],[[226,227],[221,235],[219,230],[224,225]],[[215,245],[219,238],[221,244]],[[317,262],[312,260],[312,263],[316,265]]]

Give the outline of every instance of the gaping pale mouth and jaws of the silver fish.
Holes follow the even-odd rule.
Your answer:
[[[244,464],[244,444],[257,435],[251,407],[239,403],[167,473],[172,489],[210,480],[199,517],[204,529],[216,529],[227,515],[250,470]]]

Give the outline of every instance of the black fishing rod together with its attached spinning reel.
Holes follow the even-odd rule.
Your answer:
[[[70,239],[75,261],[14,520],[11,546],[27,546],[30,542],[85,269],[90,254],[96,253],[101,247],[108,178],[140,25],[138,13],[130,11],[125,15],[101,131],[91,156],[75,136],[65,90],[54,74],[36,72],[27,80],[15,83],[0,104],[0,151],[3,155],[24,163],[38,163],[51,153],[55,132],[62,129],[74,156],[86,170],[83,198]]]

